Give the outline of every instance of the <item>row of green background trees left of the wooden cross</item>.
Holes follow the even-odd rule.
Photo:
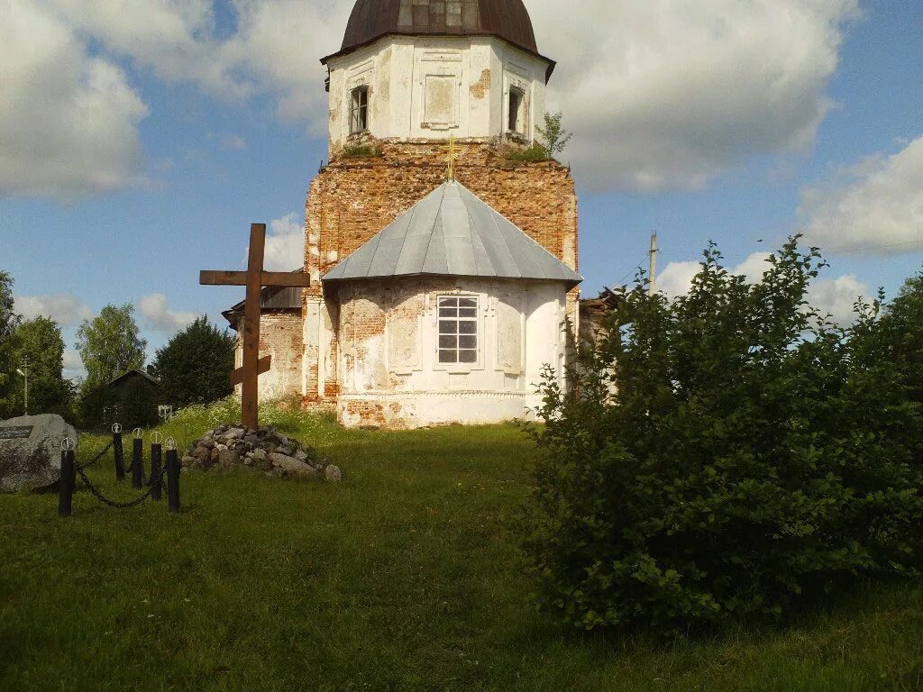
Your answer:
[[[212,325],[208,316],[175,334],[147,366],[148,343],[132,304],[106,305],[99,316],[85,319],[75,347],[86,370],[79,381],[65,376],[60,325],[45,316],[19,316],[13,278],[0,270],[0,419],[25,410],[25,378],[18,371],[24,372],[27,362],[30,413],[57,413],[82,427],[104,423],[104,412],[114,406],[126,426],[153,424],[158,405],[208,404],[234,391],[234,334]],[[108,387],[131,370],[146,372],[160,387],[140,382],[121,391]]]

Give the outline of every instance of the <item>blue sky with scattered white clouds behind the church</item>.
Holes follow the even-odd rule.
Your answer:
[[[0,268],[71,349],[80,319],[132,303],[152,351],[239,299],[198,269],[243,267],[251,221],[272,223],[278,268],[292,256],[327,158],[316,61],[351,3],[113,5],[0,9],[7,50],[28,48],[0,66]],[[921,268],[923,3],[526,6],[575,132],[585,292],[627,280],[652,230],[670,293],[710,239],[753,274],[807,233],[831,264],[814,297],[841,318]]]

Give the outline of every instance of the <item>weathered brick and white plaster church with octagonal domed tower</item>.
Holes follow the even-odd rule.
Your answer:
[[[529,417],[573,356],[581,277],[569,169],[516,156],[541,139],[555,69],[522,0],[357,0],[321,62],[312,285],[265,291],[260,394],[348,426]]]

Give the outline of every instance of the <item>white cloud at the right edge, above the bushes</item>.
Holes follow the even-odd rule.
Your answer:
[[[800,231],[825,250],[878,248],[879,255],[923,249],[923,137],[893,156],[874,156],[832,183],[801,193]],[[890,245],[882,247],[882,245]]]

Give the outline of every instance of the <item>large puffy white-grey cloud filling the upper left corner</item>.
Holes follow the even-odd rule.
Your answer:
[[[148,109],[112,62],[32,0],[0,10],[0,197],[62,199],[143,182]]]

